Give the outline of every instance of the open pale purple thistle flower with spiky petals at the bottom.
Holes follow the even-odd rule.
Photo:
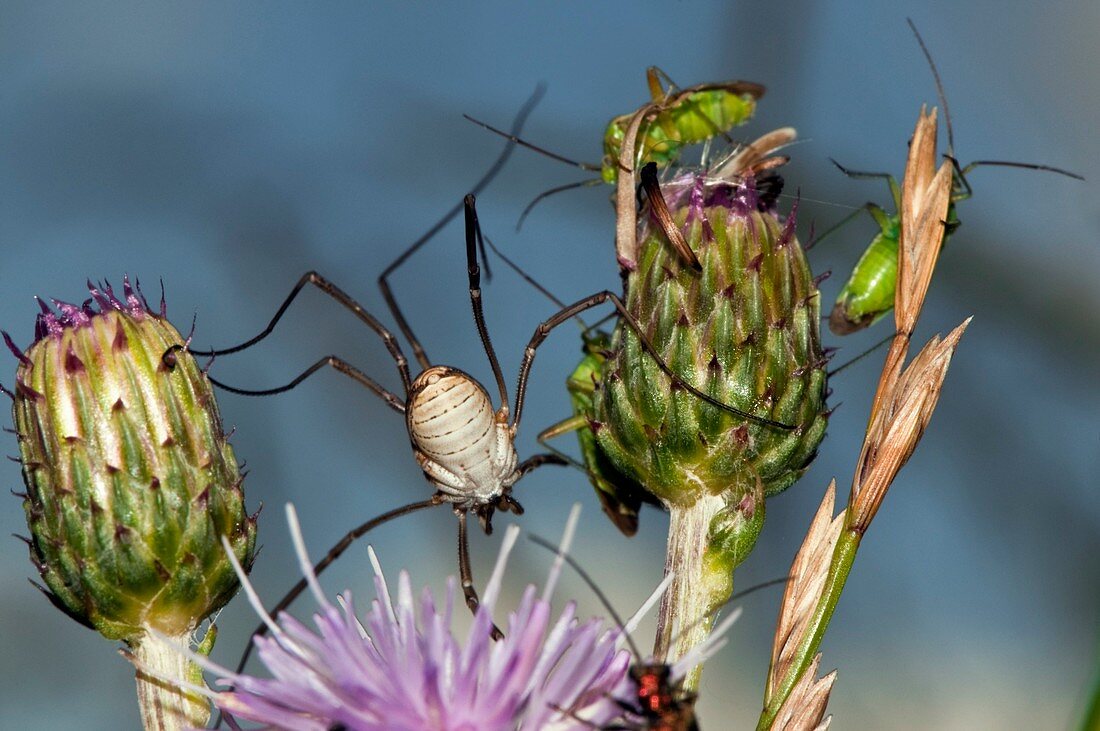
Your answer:
[[[508,529],[481,608],[460,642],[451,629],[457,582],[449,579],[438,607],[428,589],[414,598],[403,571],[395,598],[373,550],[377,598],[363,621],[349,592],[340,596],[339,607],[330,603],[312,574],[294,508],[287,506],[298,560],[320,605],[314,614],[317,629],[287,613],[276,624],[242,575],[250,601],[272,633],[256,640],[256,650],[274,677],[238,675],[193,655],[231,689],[191,689],[237,719],[295,731],[593,729],[622,719],[616,699],[630,698],[632,688],[631,655],[620,642],[668,582],[624,628],[605,629],[598,619],[582,622],[573,602],[552,620],[550,597],[576,514],[574,509],[541,595],[528,586],[508,614],[505,639],[493,642],[493,610],[519,532]]]

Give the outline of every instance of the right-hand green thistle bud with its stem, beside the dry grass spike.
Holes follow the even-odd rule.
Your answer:
[[[733,568],[762,527],[765,498],[802,475],[825,433],[820,298],[794,236],[795,212],[785,221],[776,213],[776,185],[758,192],[751,176],[685,174],[661,186],[671,222],[642,215],[627,278],[627,309],[666,363],[752,418],[678,388],[622,323],[594,398],[602,452],[672,511],[670,567],[680,549],[692,554],[694,568],[675,568],[694,583],[695,618],[729,595]],[[701,268],[670,245],[668,226]],[[703,535],[678,538],[678,520]]]

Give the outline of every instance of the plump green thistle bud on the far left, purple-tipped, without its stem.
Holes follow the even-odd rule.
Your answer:
[[[89,290],[59,314],[43,303],[25,354],[4,334],[31,560],[54,605],[106,638],[183,636],[239,588],[220,536],[250,565],[255,517],[163,300],[157,314],[129,281],[121,299]]]

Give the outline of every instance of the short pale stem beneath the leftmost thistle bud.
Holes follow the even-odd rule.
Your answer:
[[[132,652],[139,665],[158,676],[153,677],[141,671],[135,676],[138,706],[145,731],[201,729],[210,720],[210,706],[206,700],[160,679],[191,679],[191,661],[183,652],[189,644],[190,634],[185,634],[164,642],[145,640],[133,646]]]

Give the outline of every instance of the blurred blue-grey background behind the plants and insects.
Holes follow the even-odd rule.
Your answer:
[[[267,321],[297,277],[327,274],[384,315],[380,272],[460,200],[502,146],[463,112],[506,126],[536,82],[549,90],[526,136],[596,160],[604,125],[646,98],[660,65],[688,85],[744,78],[768,86],[747,136],[795,125],[788,192],[801,190],[801,235],[886,187],[829,163],[901,171],[931,74],[912,15],[947,89],[961,160],[1002,158],[1075,169],[983,169],[960,206],[920,341],[969,314],[939,409],[864,542],[824,645],[838,667],[840,728],[1066,728],[1079,712],[1097,650],[1100,353],[1100,5],[952,2],[718,2],[477,5],[8,2],[0,8],[0,324],[28,344],[35,295],[81,300],[87,277],[140,277],[167,289],[169,315],[198,346],[228,345]],[[579,171],[517,151],[480,198],[485,230],[563,299],[618,285],[607,189],[553,198],[516,234],[527,201]],[[789,206],[787,199],[784,208]],[[833,268],[825,300],[872,231],[869,221],[811,253]],[[392,283],[429,355],[486,379],[469,314],[461,224]],[[552,307],[496,267],[488,325],[509,384],[522,346]],[[881,329],[880,329],[881,330]],[[839,358],[881,333],[839,343]],[[827,344],[837,339],[826,335]],[[540,351],[519,439],[568,412],[572,328]],[[377,340],[316,292],[277,334],[227,356],[217,374],[254,388],[285,383],[338,353],[392,388]],[[806,477],[768,506],[741,587],[783,575],[828,479],[847,491],[881,358],[835,379],[843,402]],[[11,385],[14,359],[0,381]],[[253,573],[273,602],[297,578],[283,505],[293,500],[316,554],[367,517],[428,494],[402,419],[324,374],[293,394],[223,395],[227,427],[266,507]],[[565,442],[572,448],[572,440]],[[8,436],[7,452],[14,454]],[[21,489],[15,464],[3,483]],[[557,535],[585,506],[578,557],[620,611],[659,580],[664,517],[627,540],[603,518],[584,477],[544,469],[518,486],[525,529]],[[498,520],[498,529],[507,520]],[[372,538],[389,571],[442,587],[454,571],[446,510]],[[19,500],[0,533],[25,532]],[[483,580],[498,534],[474,540]],[[548,556],[517,550],[508,588],[541,582]],[[0,551],[0,727],[136,728],[131,667],[26,584],[25,549]],[[324,585],[371,596],[365,547]],[[560,598],[603,613],[570,577]],[[506,598],[506,601],[508,599]],[[779,592],[746,600],[732,643],[707,667],[704,728],[750,728],[768,664]],[[299,616],[309,605],[302,602]],[[232,664],[255,622],[243,599],[220,618],[216,658]],[[648,644],[651,624],[644,629]],[[648,636],[647,636],[648,635]]]

